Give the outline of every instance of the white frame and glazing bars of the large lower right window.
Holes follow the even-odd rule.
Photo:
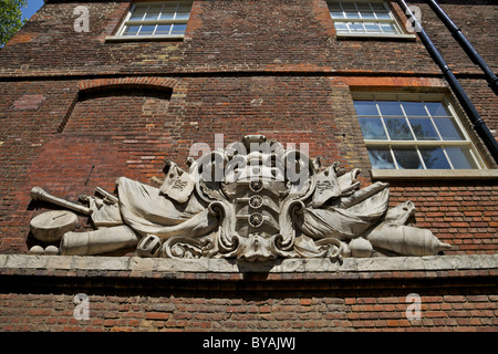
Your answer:
[[[452,117],[454,118],[455,123],[457,124],[457,127],[459,128],[459,131],[461,132],[464,139],[463,140],[419,140],[416,137],[416,134],[414,134],[414,132],[412,132],[412,127],[408,124],[408,127],[411,129],[411,133],[414,137],[413,140],[397,140],[397,139],[391,139],[391,137],[388,136],[388,132],[387,129],[384,127],[385,132],[387,132],[387,139],[365,139],[363,138],[366,147],[387,147],[391,152],[391,156],[392,159],[395,164],[396,168],[387,168],[387,169],[373,169],[376,171],[381,171],[378,175],[395,175],[401,173],[402,176],[408,176],[409,174],[412,174],[411,171],[414,171],[413,175],[419,175],[419,176],[424,176],[424,174],[426,176],[432,175],[428,171],[435,171],[436,169],[430,169],[427,168],[425,166],[424,159],[422,157],[421,147],[443,147],[444,154],[447,157],[446,150],[444,149],[444,147],[466,147],[468,148],[470,156],[475,163],[475,165],[477,166],[477,168],[473,168],[473,169],[456,169],[454,168],[452,162],[449,158],[447,158],[450,169],[444,169],[440,171],[476,171],[476,170],[480,170],[480,169],[487,169],[486,163],[484,162],[481,155],[479,154],[479,152],[477,150],[476,146],[474,145],[467,129],[465,128],[465,126],[461,123],[460,116],[463,116],[461,114],[458,114],[458,112],[455,110],[454,105],[452,104],[452,102],[448,100],[448,97],[446,96],[446,94],[444,93],[373,93],[373,92],[359,92],[359,93],[353,93],[353,101],[408,101],[408,102],[440,102],[444,104],[444,106],[446,108],[448,108]],[[378,107],[377,107],[378,108]],[[380,115],[381,117],[382,114]],[[406,113],[404,112],[404,116],[405,118],[408,118],[409,116],[406,115]],[[362,116],[359,116],[356,114],[356,118],[360,118]],[[365,116],[366,117],[366,116]],[[371,115],[369,115],[369,117],[371,117]],[[428,117],[430,119],[433,119],[433,117],[430,115],[428,115]],[[384,119],[382,119],[383,125],[384,125]],[[363,135],[363,133],[362,133]],[[422,163],[423,169],[402,169],[400,168],[400,166],[397,165],[394,152],[393,152],[393,147],[415,147],[418,158]],[[393,173],[382,173],[382,171],[393,171]],[[423,171],[422,174],[419,171]],[[446,174],[446,175],[452,175],[452,174]],[[453,174],[455,175],[455,174]],[[456,175],[455,175],[456,176]]]

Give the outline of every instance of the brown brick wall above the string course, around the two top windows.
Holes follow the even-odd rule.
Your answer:
[[[2,50],[0,73],[390,72],[394,64],[401,64],[394,71],[437,72],[419,42],[335,40],[323,0],[195,1],[183,42],[105,42],[128,4],[86,3],[90,32],[75,32],[75,4],[49,1]]]

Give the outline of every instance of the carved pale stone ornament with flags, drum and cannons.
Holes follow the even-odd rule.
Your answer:
[[[341,261],[432,256],[450,248],[429,230],[406,225],[415,210],[411,201],[387,209],[387,184],[361,189],[360,170],[345,171],[338,163],[321,168],[319,158],[311,162],[261,135],[190,158],[188,171],[168,160],[165,170],[160,188],[120,177],[117,197],[97,187],[95,196],[82,196],[87,207],[35,187],[33,199],[90,215],[95,230],[68,230],[58,221],[70,214],[56,214],[37,217],[33,233],[39,240],[60,238],[60,254],[76,256],[136,247],[138,257]]]

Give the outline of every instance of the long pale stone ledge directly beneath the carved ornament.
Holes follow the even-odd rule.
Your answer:
[[[341,263],[329,259],[283,259],[267,262],[247,262],[226,259],[185,259],[138,257],[77,257],[77,256],[31,256],[0,254],[0,274],[66,274],[76,275],[97,271],[100,275],[117,274],[154,278],[154,274],[179,273],[385,273],[498,270],[498,254],[393,257],[393,258],[346,258]],[[185,278],[185,277],[174,277]],[[339,277],[341,278],[341,277]],[[383,277],[384,278],[384,277]]]

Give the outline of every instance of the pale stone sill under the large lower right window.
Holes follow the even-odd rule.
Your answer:
[[[498,179],[498,169],[371,169],[372,179]]]

